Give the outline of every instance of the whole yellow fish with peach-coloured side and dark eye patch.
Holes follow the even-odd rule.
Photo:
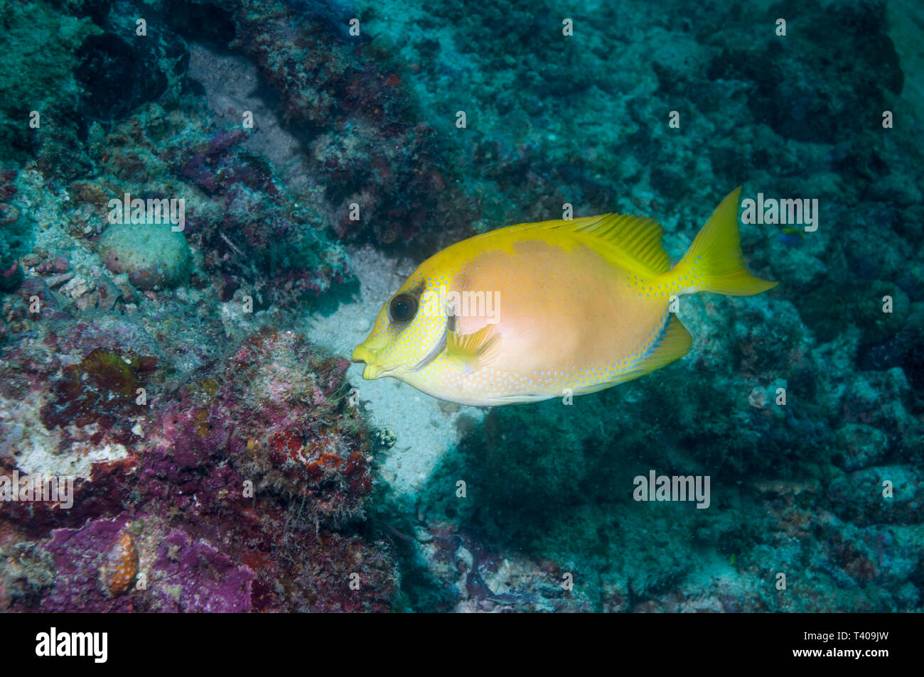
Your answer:
[[[460,405],[594,393],[687,354],[672,296],[760,294],[745,268],[736,188],[673,268],[651,219],[603,214],[518,224],[432,256],[353,351],[367,380],[391,376]]]

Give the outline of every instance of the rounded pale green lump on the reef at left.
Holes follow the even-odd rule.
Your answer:
[[[112,272],[128,273],[139,289],[185,284],[192,271],[186,237],[170,224],[114,224],[99,241],[100,259]]]

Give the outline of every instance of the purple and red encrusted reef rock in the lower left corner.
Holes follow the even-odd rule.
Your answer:
[[[95,369],[107,387],[133,387],[123,367],[96,351],[79,369]],[[158,397],[122,457],[98,461],[78,481],[73,510],[9,504],[5,519],[16,528],[4,542],[35,543],[51,559],[42,575],[10,574],[6,607],[389,610],[391,547],[361,522],[375,442],[344,396],[345,367],[292,333],[261,332],[217,372]],[[80,406],[128,418],[110,402],[117,388],[110,395]],[[68,430],[95,429],[97,444],[116,438],[99,420],[70,420]],[[50,474],[38,465],[30,472]]]

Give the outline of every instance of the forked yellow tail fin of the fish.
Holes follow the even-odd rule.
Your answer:
[[[778,283],[761,280],[748,272],[738,232],[736,187],[715,208],[689,250],[667,274],[680,294],[714,292],[728,296],[760,294]]]

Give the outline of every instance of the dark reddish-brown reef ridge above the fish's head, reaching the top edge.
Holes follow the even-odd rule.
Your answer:
[[[263,3],[237,21],[235,43],[278,91],[285,119],[315,130],[306,145],[334,233],[383,245],[414,238],[416,246],[434,241],[428,224],[450,237],[465,233],[475,210],[456,187],[444,143],[414,110],[402,84],[406,66],[303,17],[279,0]],[[351,204],[359,220],[350,218]]]

